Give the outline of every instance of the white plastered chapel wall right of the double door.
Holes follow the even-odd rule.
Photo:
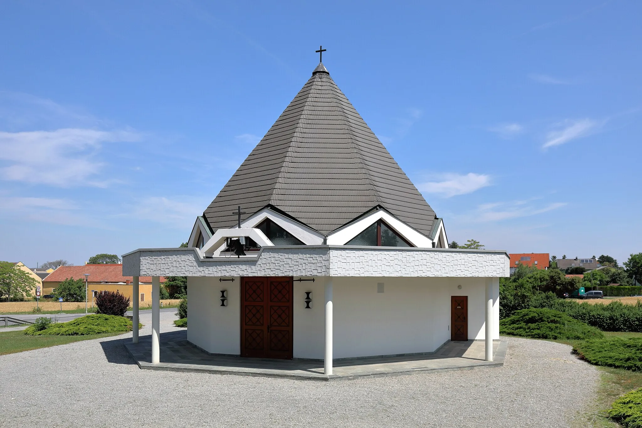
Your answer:
[[[484,339],[487,280],[333,278],[334,358],[433,352],[450,339],[451,296],[468,296],[469,340]],[[377,293],[379,282],[383,293]],[[304,291],[313,291],[313,309],[302,309]],[[295,283],[295,358],[323,357],[323,293],[321,282]],[[498,295],[494,280],[494,339],[499,338]]]

